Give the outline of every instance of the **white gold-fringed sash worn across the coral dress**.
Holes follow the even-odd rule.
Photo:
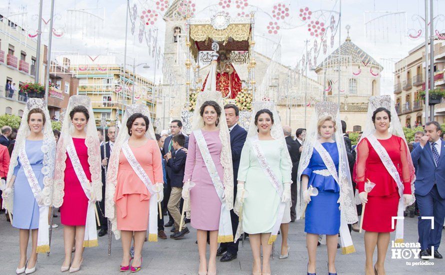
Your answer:
[[[130,163],[131,168],[133,168],[133,171],[151,194],[148,212],[148,241],[157,241],[157,199],[155,197],[156,191],[153,189],[153,183],[131,151],[131,148],[128,145],[128,140],[123,142],[122,152],[125,155],[126,160],[128,160],[128,163]]]

